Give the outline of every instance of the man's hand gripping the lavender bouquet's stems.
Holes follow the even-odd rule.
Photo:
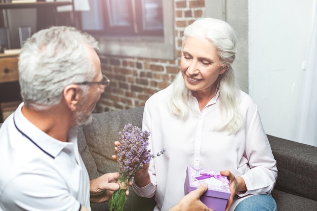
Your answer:
[[[119,189],[117,183],[119,173],[108,173],[90,181],[90,202],[100,203],[109,201],[114,191]],[[131,184],[130,184],[131,185]],[[129,195],[127,188],[126,195]]]

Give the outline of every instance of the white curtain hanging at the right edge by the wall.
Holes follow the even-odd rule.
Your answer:
[[[317,147],[317,6],[302,89],[296,141]]]

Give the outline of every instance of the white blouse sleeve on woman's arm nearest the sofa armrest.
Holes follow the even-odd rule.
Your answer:
[[[249,161],[250,170],[241,177],[248,190],[238,195],[270,194],[278,177],[278,169],[255,104],[253,107],[251,106],[246,115],[244,156]]]

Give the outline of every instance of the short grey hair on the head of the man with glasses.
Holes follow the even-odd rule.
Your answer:
[[[28,38],[19,56],[24,104],[50,107],[60,102],[67,85],[93,79],[96,71],[87,47],[98,50],[95,38],[67,26],[43,29]],[[82,88],[86,93],[87,87]]]

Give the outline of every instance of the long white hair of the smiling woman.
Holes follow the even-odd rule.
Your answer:
[[[213,130],[227,131],[228,134],[235,134],[240,130],[244,123],[244,118],[235,99],[237,88],[232,62],[235,59],[236,39],[232,27],[225,21],[214,18],[202,18],[188,25],[182,37],[182,46],[187,37],[206,38],[217,49],[221,66],[226,68],[223,74],[220,74],[216,83],[220,93],[220,111],[221,121],[215,122]],[[185,86],[181,72],[179,72],[172,82],[173,93],[169,98],[169,108],[175,115],[186,119],[189,108],[187,102],[192,93]]]

